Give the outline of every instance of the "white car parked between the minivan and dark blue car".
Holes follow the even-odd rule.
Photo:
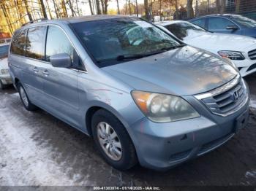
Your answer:
[[[183,20],[162,21],[156,24],[186,44],[229,58],[236,64],[242,77],[256,71],[256,39],[241,35],[211,33]]]

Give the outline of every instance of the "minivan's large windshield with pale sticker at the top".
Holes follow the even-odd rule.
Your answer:
[[[99,67],[183,46],[161,29],[135,17],[85,21],[72,27]]]

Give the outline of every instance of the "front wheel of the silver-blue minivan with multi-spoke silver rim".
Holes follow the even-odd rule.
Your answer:
[[[99,109],[92,117],[91,125],[94,141],[107,163],[119,170],[127,170],[137,163],[132,140],[113,114]]]

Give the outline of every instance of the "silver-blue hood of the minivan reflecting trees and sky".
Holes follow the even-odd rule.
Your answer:
[[[102,69],[135,90],[173,95],[204,93],[238,74],[222,58],[189,46]]]

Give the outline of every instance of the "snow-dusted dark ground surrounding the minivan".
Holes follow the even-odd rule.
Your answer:
[[[139,165],[117,171],[99,157],[91,138],[47,112],[27,112],[12,87],[0,91],[0,185],[256,186],[256,74],[246,81],[252,94],[248,128],[165,173]]]

